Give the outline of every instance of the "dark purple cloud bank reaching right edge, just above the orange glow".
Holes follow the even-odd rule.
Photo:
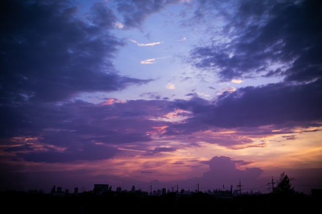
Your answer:
[[[322,120],[321,81],[302,85],[276,83],[240,88],[235,92],[219,96],[212,103],[201,98],[175,101],[179,108],[191,111],[193,116],[185,123],[169,126],[166,134],[188,134],[207,130],[209,127],[320,126]]]

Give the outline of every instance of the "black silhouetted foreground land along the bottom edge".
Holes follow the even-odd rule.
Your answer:
[[[1,213],[322,213],[320,197],[302,193],[242,195],[221,199],[198,192],[147,196],[139,192],[83,192],[66,196],[1,192]]]

